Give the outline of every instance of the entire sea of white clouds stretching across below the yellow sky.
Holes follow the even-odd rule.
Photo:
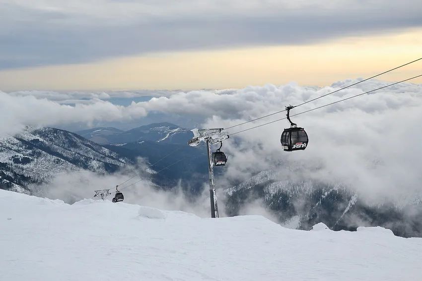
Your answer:
[[[119,95],[154,95],[150,92],[0,92],[0,134],[18,133],[26,125],[57,126],[84,122],[89,126],[98,120],[141,120],[151,112],[186,116],[198,120],[201,127],[230,127],[356,81],[339,81],[323,88],[290,83],[244,89],[173,91],[166,92],[165,96],[156,95],[146,102],[133,102],[127,107],[107,100]],[[291,113],[300,113],[388,84],[379,80],[366,81],[295,108]],[[61,103],[63,100],[81,103],[70,106]],[[282,112],[227,131],[233,134],[284,116],[285,112]],[[305,151],[282,151],[280,135],[289,126],[286,120],[233,134],[223,143],[229,164],[219,178],[219,186],[247,179],[262,170],[294,167],[308,179],[327,184],[342,182],[369,202],[381,199],[409,202],[422,193],[422,85],[398,84],[292,117],[292,120],[304,127],[309,135]],[[95,180],[93,177],[93,182]],[[90,185],[95,185],[93,182]]]

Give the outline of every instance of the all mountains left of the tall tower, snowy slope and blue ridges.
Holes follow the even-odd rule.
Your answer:
[[[82,135],[111,144],[99,144],[83,136],[56,128],[27,128],[15,136],[0,138],[0,188],[31,193],[29,186],[48,182],[59,173],[86,169],[113,173],[138,158],[156,173],[150,179],[162,188],[182,185],[198,193],[208,164],[205,147],[192,148],[192,132],[170,123],[155,123],[127,132],[94,128]],[[110,139],[107,141],[105,137]],[[118,142],[135,139],[135,142]],[[203,156],[203,157],[200,157]]]

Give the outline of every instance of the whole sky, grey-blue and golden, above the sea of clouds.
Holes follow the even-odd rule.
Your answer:
[[[327,86],[421,57],[420,8],[419,0],[0,0],[0,90]]]

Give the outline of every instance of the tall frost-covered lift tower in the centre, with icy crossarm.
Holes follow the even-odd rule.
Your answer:
[[[225,139],[228,139],[228,134],[222,132],[223,128],[217,129],[193,129],[194,138],[191,139],[188,144],[190,146],[197,146],[201,142],[207,144],[208,154],[208,178],[210,182],[210,201],[211,201],[211,218],[218,218],[218,206],[217,206],[217,194],[215,192],[214,185],[214,163],[212,162],[211,144],[219,143]]]

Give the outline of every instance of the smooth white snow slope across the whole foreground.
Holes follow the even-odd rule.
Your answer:
[[[0,280],[422,280],[422,239],[0,190]]]

